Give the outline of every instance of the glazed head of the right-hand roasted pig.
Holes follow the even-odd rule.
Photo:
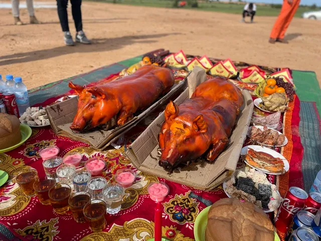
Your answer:
[[[210,141],[205,136],[207,128],[202,114],[196,117],[187,112],[179,115],[178,106],[171,101],[166,106],[165,123],[159,133],[162,149],[159,166],[171,170],[204,154]]]

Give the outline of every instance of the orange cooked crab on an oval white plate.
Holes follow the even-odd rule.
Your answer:
[[[271,172],[283,172],[284,163],[280,158],[275,158],[265,152],[257,152],[249,148],[245,156],[248,164],[256,168],[265,169]]]

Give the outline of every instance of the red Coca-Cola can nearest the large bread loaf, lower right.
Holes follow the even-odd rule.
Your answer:
[[[304,208],[307,197],[301,188],[290,187],[274,219],[274,226],[279,232],[286,233],[295,213]]]

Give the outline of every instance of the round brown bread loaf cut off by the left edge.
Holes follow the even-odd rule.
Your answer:
[[[21,141],[20,121],[16,115],[0,113],[0,149],[12,147]]]

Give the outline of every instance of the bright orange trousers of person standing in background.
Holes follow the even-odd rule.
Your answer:
[[[299,7],[300,0],[293,0],[289,4],[287,0],[283,0],[283,5],[279,16],[273,26],[270,38],[283,39],[287,28],[289,27],[297,8]]]

